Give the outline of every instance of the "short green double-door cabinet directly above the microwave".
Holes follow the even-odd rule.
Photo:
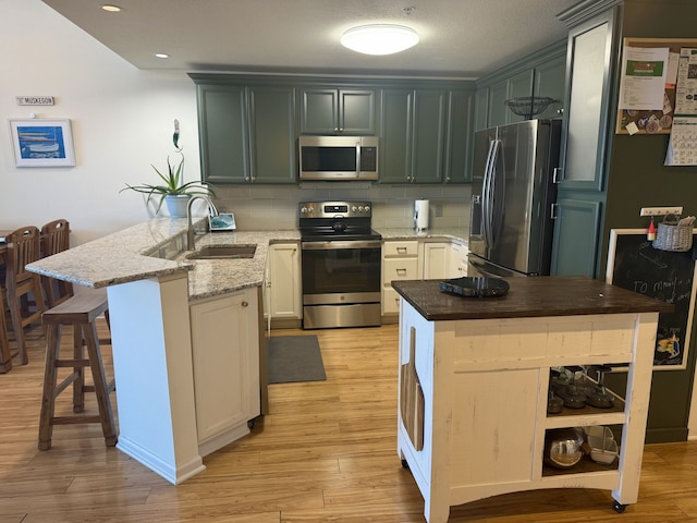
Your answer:
[[[376,90],[302,87],[299,98],[303,134],[376,134]]]

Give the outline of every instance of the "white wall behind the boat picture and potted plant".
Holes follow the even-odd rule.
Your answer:
[[[71,222],[73,244],[148,218],[124,183],[156,182],[181,124],[186,179],[199,178],[196,89],[184,72],[139,71],[39,0],[0,0],[0,229]],[[54,106],[17,106],[48,95]],[[68,118],[74,168],[16,168],[8,119]]]

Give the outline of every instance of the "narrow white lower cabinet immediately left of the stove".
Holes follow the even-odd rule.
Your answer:
[[[271,319],[301,319],[301,248],[297,242],[269,245],[266,313]]]

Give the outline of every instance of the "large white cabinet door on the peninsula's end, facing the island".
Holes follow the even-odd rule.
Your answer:
[[[260,414],[257,288],[189,304],[200,455],[249,433]]]

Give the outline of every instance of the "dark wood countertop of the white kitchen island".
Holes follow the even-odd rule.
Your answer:
[[[521,318],[586,314],[670,313],[673,305],[586,277],[506,278],[509,293],[463,297],[440,280],[393,281],[392,287],[428,320]]]

